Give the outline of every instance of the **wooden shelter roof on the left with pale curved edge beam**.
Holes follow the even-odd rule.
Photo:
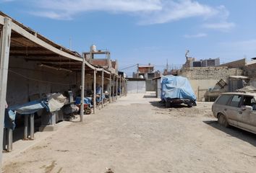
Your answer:
[[[12,19],[7,14],[0,12],[0,34],[1,25],[4,25],[4,17]],[[48,40],[43,35],[22,25],[22,23],[17,22],[15,19],[12,19],[11,27],[10,57],[35,61],[38,62],[38,66],[81,71],[83,59],[79,53]],[[88,63],[88,61],[85,61],[85,72],[92,72],[94,70],[104,71],[106,74],[110,74],[105,69],[95,67]]]

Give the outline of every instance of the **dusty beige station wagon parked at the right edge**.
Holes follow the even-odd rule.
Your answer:
[[[223,93],[212,111],[224,127],[232,125],[256,134],[256,93]]]

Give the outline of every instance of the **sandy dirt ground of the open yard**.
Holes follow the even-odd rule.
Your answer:
[[[4,172],[255,172],[256,135],[222,128],[212,103],[158,101],[122,97],[5,163]]]

